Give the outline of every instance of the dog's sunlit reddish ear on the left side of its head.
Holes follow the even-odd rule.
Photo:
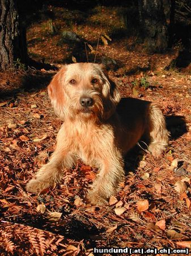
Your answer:
[[[64,92],[64,78],[66,66],[62,67],[60,71],[53,77],[48,85],[49,98],[54,107],[55,113],[61,118],[65,119],[65,92]]]

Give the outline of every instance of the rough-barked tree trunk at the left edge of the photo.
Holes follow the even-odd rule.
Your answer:
[[[0,69],[27,63],[26,31],[21,27],[14,0],[0,0]]]

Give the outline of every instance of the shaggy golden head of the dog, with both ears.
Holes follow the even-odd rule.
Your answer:
[[[63,66],[50,82],[48,93],[61,119],[108,119],[120,101],[116,84],[102,65],[94,63]]]

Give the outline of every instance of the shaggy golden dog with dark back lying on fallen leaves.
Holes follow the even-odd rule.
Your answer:
[[[124,180],[126,153],[144,136],[148,150],[158,156],[168,144],[165,118],[153,102],[120,98],[104,67],[94,63],[64,65],[48,86],[54,111],[63,119],[56,150],[49,162],[28,182],[39,193],[60,183],[63,170],[77,159],[98,168],[88,200],[104,205]]]

